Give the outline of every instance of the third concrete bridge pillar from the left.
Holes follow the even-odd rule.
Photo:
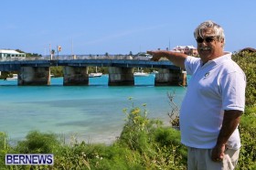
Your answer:
[[[133,86],[133,68],[109,67],[109,86]]]

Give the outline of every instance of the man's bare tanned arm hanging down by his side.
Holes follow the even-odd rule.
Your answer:
[[[213,161],[221,161],[223,159],[225,144],[228,142],[230,135],[239,125],[241,114],[242,112],[238,110],[229,110],[224,112],[224,118],[218,140],[216,146],[212,149],[211,159]]]

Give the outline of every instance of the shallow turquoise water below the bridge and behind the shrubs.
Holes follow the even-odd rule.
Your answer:
[[[0,80],[0,132],[12,141],[24,139],[32,130],[76,136],[89,143],[111,143],[123,129],[124,108],[146,103],[149,117],[169,122],[171,106],[166,93],[182,87],[155,87],[154,75],[135,78],[133,87],[109,87],[108,76],[90,78],[89,86],[62,86],[53,78],[50,86],[17,86],[16,80]]]

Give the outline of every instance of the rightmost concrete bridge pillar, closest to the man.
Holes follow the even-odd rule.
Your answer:
[[[187,73],[181,69],[158,69],[155,86],[187,86]]]

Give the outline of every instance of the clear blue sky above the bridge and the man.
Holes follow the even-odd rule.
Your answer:
[[[0,49],[48,55],[129,54],[197,47],[206,20],[224,28],[225,50],[256,48],[255,0],[1,1]]]

